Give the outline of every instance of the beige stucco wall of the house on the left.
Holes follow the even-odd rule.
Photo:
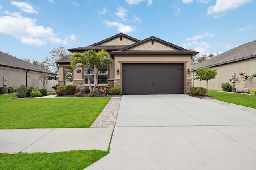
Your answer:
[[[26,85],[26,70],[20,70],[20,69],[12,69],[12,68],[8,68],[8,67],[0,67],[0,86],[3,87],[4,86],[4,78],[7,78],[6,81],[6,87],[12,86],[16,89],[16,87],[19,87],[20,85]],[[39,80],[39,76],[41,75],[41,73],[38,72],[34,72],[34,71],[29,71],[27,73],[27,85],[29,87],[37,87],[37,84],[35,85],[35,81]],[[51,77],[55,77],[55,75],[50,75],[50,74],[45,74],[42,73],[42,75],[48,75]]]

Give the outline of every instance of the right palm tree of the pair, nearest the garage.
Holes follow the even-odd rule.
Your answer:
[[[113,67],[114,62],[110,58],[108,52],[105,49],[101,49],[98,53],[93,49],[90,49],[87,52],[88,52],[88,55],[90,55],[91,61],[94,65],[94,68],[95,68],[94,73],[96,72],[96,77],[95,77],[95,80],[94,80],[94,87],[93,87],[93,91],[95,92],[95,87],[96,87],[96,83],[97,83],[97,80],[98,80],[98,70],[99,70],[99,68],[100,67],[106,67],[107,63],[110,63],[111,67]]]

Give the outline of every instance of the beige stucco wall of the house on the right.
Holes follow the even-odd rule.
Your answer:
[[[242,61],[237,61],[225,65],[219,65],[216,67],[211,67],[212,69],[218,69],[218,74],[216,76],[216,79],[208,81],[208,89],[211,90],[221,90],[221,83],[222,82],[230,82],[232,84],[233,81],[229,81],[231,79],[232,75],[235,74],[235,77],[239,77],[238,73],[246,73],[246,75],[250,76],[253,73],[256,73],[256,59],[247,59]],[[206,81],[199,81],[194,80],[195,72],[192,72],[192,78],[193,78],[193,85],[194,86],[201,86],[206,88]],[[243,79],[238,78],[237,83],[237,91],[240,92],[242,89],[244,89],[244,81]],[[253,78],[252,80],[248,81],[246,88],[248,88],[248,85],[252,85],[252,87],[256,88],[256,78]],[[252,88],[250,87],[250,88]],[[244,91],[247,91],[248,89],[245,89]]]

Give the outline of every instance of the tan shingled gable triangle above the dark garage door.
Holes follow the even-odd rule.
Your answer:
[[[170,47],[168,45],[165,45],[164,43],[158,42],[154,40],[154,43],[152,45],[151,40],[145,43],[140,44],[139,46],[130,48],[128,50],[150,50],[150,51],[162,51],[162,50],[177,50],[174,47]]]

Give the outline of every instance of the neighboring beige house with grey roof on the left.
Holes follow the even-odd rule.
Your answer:
[[[40,87],[39,76],[48,75],[49,79],[55,79],[56,74],[42,69],[36,65],[0,52],[0,86],[20,87],[26,85],[27,87]]]

